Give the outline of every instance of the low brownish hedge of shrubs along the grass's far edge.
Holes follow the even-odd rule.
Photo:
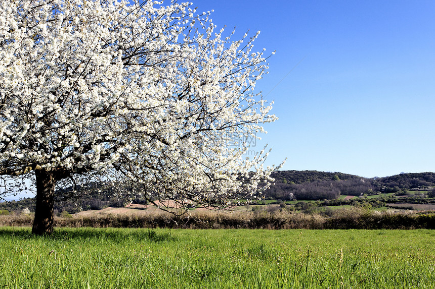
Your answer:
[[[0,216],[2,226],[30,226],[31,215]],[[361,208],[337,210],[332,216],[301,212],[169,213],[55,218],[57,227],[247,228],[247,229],[434,229],[434,212],[379,212]]]

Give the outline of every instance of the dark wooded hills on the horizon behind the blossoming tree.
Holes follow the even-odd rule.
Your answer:
[[[403,193],[407,190],[430,191],[435,188],[435,172],[400,174],[384,178],[363,178],[342,172],[325,172],[317,170],[279,170],[272,174],[275,183],[263,192],[263,196],[281,200],[331,200],[340,195],[360,196],[364,194]],[[89,187],[89,188],[88,188]],[[98,190],[95,190],[98,188]],[[67,199],[70,188],[59,190],[55,210],[75,212],[82,210],[103,209],[108,206],[123,207],[123,199],[114,198],[110,188],[101,189],[98,184],[90,184],[84,190],[90,193],[75,199]],[[65,196],[65,198],[62,198]],[[144,199],[135,199],[134,203],[143,204]],[[21,211],[23,208],[34,211],[35,199],[0,203],[0,210]],[[0,212],[1,213],[1,212]]]

